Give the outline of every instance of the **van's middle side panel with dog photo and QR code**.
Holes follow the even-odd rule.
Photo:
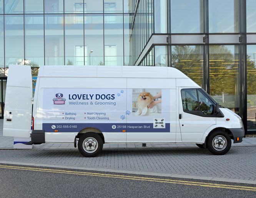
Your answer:
[[[129,92],[130,91],[130,92]],[[153,108],[139,113],[140,92],[156,97]],[[175,79],[127,79],[127,142],[175,142],[176,83]],[[162,121],[163,120],[163,124]]]

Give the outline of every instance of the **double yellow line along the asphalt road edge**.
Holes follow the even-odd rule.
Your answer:
[[[226,188],[226,189],[256,191],[256,187],[224,185],[224,184],[204,183],[204,182],[190,182],[190,181],[183,181],[183,180],[170,180],[170,179],[150,178],[150,177],[135,177],[135,176],[128,176],[128,175],[113,175],[113,174],[78,172],[78,171],[57,170],[57,169],[40,169],[40,168],[7,166],[7,165],[0,165],[0,168],[16,169],[16,170],[31,170],[31,171],[38,171],[38,172],[65,173],[65,174],[72,174],[72,175],[86,175],[86,176],[96,176],[96,177],[120,178],[120,179],[141,180],[141,181],[148,181],[148,182],[175,183],[175,184],[194,185],[194,186],[213,187],[213,188]]]

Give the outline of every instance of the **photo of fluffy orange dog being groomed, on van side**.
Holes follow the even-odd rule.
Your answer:
[[[161,114],[161,90],[133,89],[133,112],[135,116]]]

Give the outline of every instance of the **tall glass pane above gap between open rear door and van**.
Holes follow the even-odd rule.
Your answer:
[[[43,15],[25,15],[25,64],[44,65]]]

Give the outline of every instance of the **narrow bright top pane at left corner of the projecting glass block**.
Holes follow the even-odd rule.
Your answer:
[[[166,0],[158,0],[155,1],[155,33],[167,33],[167,1]]]

